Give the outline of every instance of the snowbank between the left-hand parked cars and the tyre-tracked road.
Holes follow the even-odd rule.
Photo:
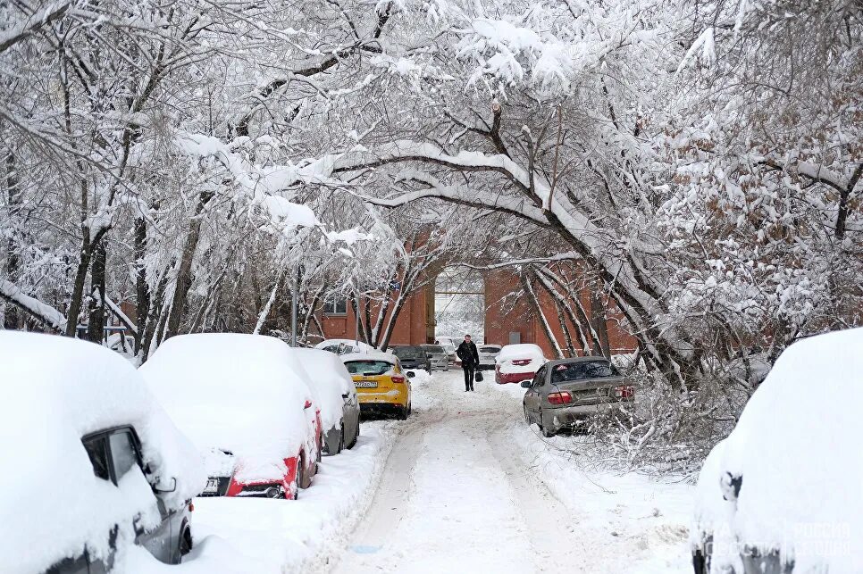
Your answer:
[[[391,421],[364,422],[356,446],[324,458],[314,485],[298,500],[196,499],[196,536],[205,537],[210,545],[188,565],[182,564],[180,571],[198,563],[216,566],[189,571],[282,574],[317,571],[315,567],[325,571],[328,557],[347,543],[372,501],[394,428],[397,425]]]

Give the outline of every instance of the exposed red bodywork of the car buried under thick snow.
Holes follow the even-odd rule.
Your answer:
[[[311,402],[306,402],[306,409],[311,409],[314,405]],[[285,475],[280,481],[272,480],[252,480],[249,482],[240,482],[230,477],[228,490],[225,496],[267,496],[268,498],[281,497],[277,495],[267,495],[268,492],[275,492],[276,489],[281,492],[285,498],[293,500],[299,495],[299,488],[307,488],[312,484],[312,477],[317,474],[318,461],[321,458],[323,449],[323,423],[321,422],[321,410],[314,409],[314,420],[309,420],[309,433],[307,437],[310,440],[306,444],[314,445],[314,453],[306,453],[306,448],[301,448],[300,451],[285,459]],[[299,462],[303,463],[303,480],[301,484],[297,484],[297,470],[300,468]]]

